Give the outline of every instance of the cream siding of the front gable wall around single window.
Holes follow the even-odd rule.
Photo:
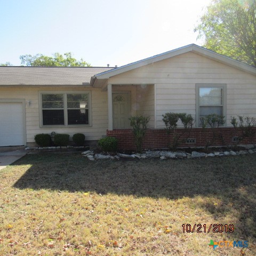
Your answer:
[[[196,115],[196,84],[226,84],[227,125],[234,115],[256,117],[256,76],[188,52],[127,71],[110,84],[155,84],[156,125],[164,127],[166,112]]]

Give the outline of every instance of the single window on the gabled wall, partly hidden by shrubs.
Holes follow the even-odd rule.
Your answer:
[[[200,118],[217,114],[226,116],[226,84],[196,84],[197,126]]]

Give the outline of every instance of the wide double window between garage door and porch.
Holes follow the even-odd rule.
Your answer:
[[[42,126],[90,125],[90,93],[41,93]]]

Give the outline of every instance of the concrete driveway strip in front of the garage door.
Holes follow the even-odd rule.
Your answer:
[[[0,147],[0,170],[28,154],[30,150],[24,150],[24,148],[24,146]]]

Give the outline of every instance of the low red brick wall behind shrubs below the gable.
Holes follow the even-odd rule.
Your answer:
[[[182,129],[177,129],[178,133],[182,131]],[[237,136],[233,127],[221,127],[219,128],[219,133],[222,134],[223,140],[215,140],[211,146],[225,146],[230,145],[232,142],[232,138]],[[124,129],[124,130],[107,130],[107,136],[115,137],[118,139],[118,148],[125,150],[135,150],[134,143],[134,135],[132,133],[132,129]],[[187,138],[187,134],[183,135],[180,138],[180,141],[185,141]],[[196,139],[196,143],[181,143],[179,147],[198,147],[205,146],[206,141],[212,140],[212,130],[208,128],[204,133],[202,128],[193,128],[189,135],[189,138]],[[151,130],[148,129],[146,133],[146,137],[143,140],[143,149],[161,149],[167,148],[169,143],[172,143],[172,134],[167,135],[166,130],[157,129]],[[256,137],[246,138],[241,143],[243,144],[253,144],[256,143]]]

